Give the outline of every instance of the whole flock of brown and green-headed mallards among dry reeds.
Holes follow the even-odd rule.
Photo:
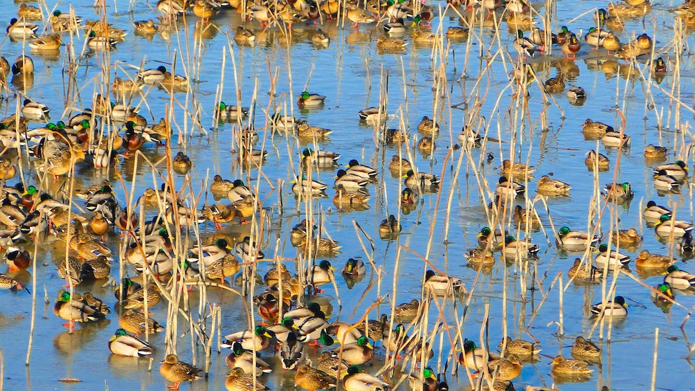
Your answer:
[[[545,51],[550,45],[558,45],[568,60],[574,60],[582,49],[580,38],[563,26],[559,33],[549,33],[532,26],[529,20],[529,6],[523,0],[511,0],[502,5],[498,0],[458,1],[448,0],[452,7],[464,7],[471,10],[480,7],[491,13],[506,9],[507,23],[516,31],[512,47],[521,56],[534,56]],[[170,28],[172,20],[185,13],[193,13],[201,24],[211,23],[210,19],[219,13],[236,8],[246,17],[256,20],[264,28],[270,24],[293,24],[309,20],[322,20],[344,16],[359,24],[379,23],[384,35],[377,40],[377,47],[386,51],[400,51],[407,45],[403,40],[409,36],[414,42],[433,43],[436,36],[429,33],[424,26],[434,17],[432,10],[420,2],[393,1],[386,3],[366,1],[364,4],[346,3],[326,0],[318,3],[311,0],[295,0],[276,3],[246,3],[241,10],[240,1],[218,2],[214,0],[159,0],[157,10],[163,15],[158,24],[150,20],[137,21],[133,29],[141,35],[154,35],[161,26]],[[345,7],[343,9],[343,7]],[[609,54],[614,52],[620,58],[636,58],[651,55],[653,40],[646,34],[638,35],[635,40],[621,44],[618,36],[623,29],[621,19],[642,17],[651,12],[648,1],[630,0],[626,3],[611,3],[605,9],[596,12],[597,26],[589,28],[584,35],[584,42],[589,47],[603,47]],[[684,18],[695,18],[695,6],[685,3],[674,12]],[[44,20],[44,35],[38,35],[40,26],[32,21]],[[411,20],[410,24],[405,21]],[[411,26],[418,26],[413,28]],[[85,44],[93,50],[114,47],[124,40],[126,31],[115,28],[106,22],[84,21],[72,13],[63,14],[55,10],[49,17],[39,8],[22,3],[17,11],[17,18],[12,19],[6,33],[15,42],[26,42],[32,53],[53,53],[63,46],[63,34],[66,31],[81,29],[85,31]],[[524,31],[530,31],[528,37]],[[450,27],[446,33],[451,40],[466,39],[466,28]],[[318,29],[311,38],[317,44],[327,44],[329,36]],[[234,40],[238,44],[253,44],[255,33],[245,26],[238,26]],[[550,41],[548,41],[550,40]],[[666,63],[663,58],[655,58],[653,72],[665,74]],[[31,56],[23,54],[13,64],[6,58],[0,59],[0,76],[4,81],[12,77],[13,85],[24,85],[33,80],[35,72]],[[121,99],[137,94],[145,86],[158,85],[164,89],[186,90],[188,79],[169,72],[165,66],[154,69],[140,69],[134,78],[115,78],[111,85],[115,96]],[[545,83],[548,92],[564,91],[562,74]],[[571,88],[570,99],[586,99],[580,88]],[[308,91],[302,92],[297,99],[300,108],[320,108],[327,98]],[[117,163],[119,158],[129,158],[131,153],[142,149],[146,144],[164,144],[171,138],[171,128],[165,119],[158,124],[149,124],[145,117],[138,115],[136,108],[122,103],[115,103],[108,97],[98,95],[92,101],[92,108],[85,109],[65,121],[49,122],[51,110],[38,101],[26,97],[21,108],[21,115],[12,115],[0,121],[0,140],[5,147],[22,146],[30,152],[31,163],[49,181],[56,181],[61,176],[71,176],[76,167],[93,167],[100,169]],[[213,116],[223,122],[236,123],[247,118],[249,110],[238,106],[218,103]],[[367,108],[359,113],[362,122],[379,124],[388,117],[383,108]],[[104,133],[101,125],[104,119],[120,127]],[[32,122],[42,122],[44,126],[31,127]],[[281,131],[290,131],[298,138],[321,140],[332,131],[320,126],[309,125],[303,119],[272,116],[272,126]],[[434,139],[439,134],[439,124],[429,117],[423,117],[417,126],[421,138],[416,147],[430,153],[434,150]],[[389,130],[389,140],[400,142],[402,135],[398,130]],[[587,119],[582,128],[587,140],[600,140],[607,149],[622,149],[630,145],[630,135],[616,131],[612,126]],[[247,147],[243,149],[243,158],[260,164],[267,153],[250,147],[258,135],[246,131],[243,135]],[[459,136],[461,144],[480,145],[481,138],[471,135],[464,129]],[[648,145],[644,156],[652,162],[666,160],[670,153],[664,147]],[[291,190],[300,199],[328,197],[326,191],[331,187],[322,183],[313,174],[319,171],[336,171],[332,183],[335,190],[333,203],[339,210],[366,210],[369,200],[366,189],[377,182],[377,169],[350,160],[345,167],[338,165],[340,154],[320,150],[304,149],[301,156],[300,174],[295,178]],[[17,175],[17,158],[0,157],[0,177],[9,181]],[[585,160],[589,171],[605,172],[610,169],[610,160],[598,151],[591,150]],[[172,169],[185,175],[193,167],[193,162],[180,151],[171,161]],[[418,198],[423,194],[439,190],[439,178],[414,167],[409,160],[393,156],[389,170],[394,176],[402,177],[404,187],[398,201],[402,213],[417,208]],[[534,176],[534,167],[524,163],[504,160],[499,167],[499,180],[494,190],[498,197],[491,208],[501,212],[505,200],[523,197],[526,184]],[[654,186],[660,194],[678,194],[689,177],[688,168],[682,160],[656,165],[653,171]],[[44,181],[46,180],[44,178]],[[567,178],[570,180],[571,178]],[[548,175],[543,175],[537,182],[537,192],[549,197],[569,197],[572,185]],[[144,222],[133,210],[122,206],[112,184],[108,181],[96,183],[88,188],[75,190],[67,194],[65,190],[53,196],[42,192],[35,185],[25,185],[20,181],[15,186],[2,188],[0,222],[6,226],[0,231],[0,241],[8,247],[6,263],[8,272],[0,274],[0,289],[26,290],[13,274],[31,267],[32,260],[28,251],[19,243],[22,238],[39,238],[53,235],[70,248],[71,256],[60,260],[58,275],[67,281],[67,285],[79,288],[85,281],[102,280],[112,277],[114,254],[103,242],[105,235],[115,231],[127,235],[124,240],[129,243],[122,261],[139,275],[136,278],[123,278],[115,288],[115,297],[122,306],[119,328],[108,340],[108,348],[120,356],[151,356],[155,347],[140,339],[141,333],[158,333],[165,326],[149,316],[149,308],[157,306],[162,299],[161,291],[167,289],[173,281],[172,269],[181,267],[181,278],[186,283],[226,284],[240,272],[243,265],[264,258],[261,244],[245,237],[236,243],[229,243],[220,238],[211,244],[196,244],[186,251],[186,259],[181,261],[174,253],[176,248],[174,236],[167,227],[190,227],[211,222],[217,229],[223,224],[245,224],[259,213],[259,197],[241,180],[229,181],[222,176],[215,176],[209,187],[215,200],[228,200],[206,205],[201,210],[187,208],[179,199],[179,194],[164,183],[161,188],[147,189],[140,194],[138,203],[156,207],[162,213]],[[607,202],[624,204],[634,197],[630,183],[608,183],[603,189]],[[71,208],[70,199],[74,196],[84,200],[83,208],[87,212]],[[539,228],[541,222],[534,210],[520,205],[514,206],[510,215],[516,224],[528,226],[531,230]],[[679,255],[690,258],[693,255],[691,222],[676,219],[675,213],[655,201],[649,201],[643,213],[649,228],[661,240],[676,244]],[[140,231],[145,240],[140,238]],[[379,224],[378,234],[384,239],[397,238],[402,231],[400,217],[389,215]],[[642,238],[635,228],[616,230],[601,243],[593,233],[573,231],[562,227],[556,234],[556,245],[562,251],[584,252],[587,248],[595,249],[595,266],[591,259],[576,258],[568,275],[576,280],[602,281],[607,272],[626,267],[632,258],[623,249],[635,249]],[[304,251],[311,258],[329,258],[335,256],[341,245],[322,235],[318,227],[306,220],[291,230],[291,243]],[[479,235],[480,247],[470,249],[467,261],[473,267],[491,267],[495,263],[493,251],[500,251],[505,259],[525,259],[535,256],[540,247],[528,240],[516,240],[514,236],[500,229],[484,227]],[[651,299],[660,308],[667,310],[675,298],[674,291],[695,290],[695,275],[679,269],[676,259],[643,249],[635,258],[637,269],[646,270],[650,275],[664,275],[663,281],[651,291]],[[367,267],[362,260],[350,258],[341,270],[349,286],[366,274]],[[320,294],[320,286],[335,282],[337,270],[329,260],[318,260],[300,275],[292,275],[284,265],[270,269],[263,277],[265,291],[254,298],[259,317],[263,324],[252,330],[235,331],[225,335],[224,347],[230,353],[225,358],[229,374],[225,380],[227,390],[263,390],[265,385],[254,378],[272,372],[275,368],[266,363],[256,353],[274,351],[280,356],[284,370],[295,371],[295,383],[304,390],[325,390],[334,388],[338,382],[348,391],[388,390],[389,379],[376,377],[365,372],[363,365],[374,359],[375,345],[380,342],[391,355],[397,359],[434,356],[432,348],[416,336],[409,337],[408,331],[414,329],[417,319],[422,316],[422,306],[418,299],[411,299],[395,306],[393,323],[386,315],[379,320],[370,320],[353,327],[345,322],[328,322],[327,308],[312,302],[300,306],[297,297],[304,288],[309,287],[313,294]],[[301,277],[300,277],[301,276]],[[466,286],[457,278],[445,276],[428,270],[423,280],[423,289],[437,296],[457,296],[466,294]],[[72,293],[71,293],[72,292]],[[613,294],[614,298],[591,307],[595,317],[626,317],[628,304],[625,297]],[[100,322],[111,314],[111,307],[90,292],[77,293],[74,290],[60,290],[54,303],[54,313],[74,328],[74,323]],[[281,319],[280,318],[280,314]],[[280,322],[277,322],[280,320]],[[277,322],[277,323],[276,323]],[[318,355],[316,366],[312,365],[309,345],[322,344],[341,347],[322,351]],[[512,340],[506,338],[499,345],[503,355],[481,349],[475,342],[464,340],[459,355],[459,365],[475,371],[486,368],[496,378],[491,385],[495,390],[514,390],[511,381],[520,376],[523,362],[533,360],[539,355],[539,342]],[[274,354],[275,354],[274,353]],[[560,378],[587,378],[591,376],[590,365],[600,363],[601,349],[590,340],[578,336],[571,349],[573,359],[564,356],[552,358],[551,372]],[[316,358],[316,357],[312,357]],[[180,383],[202,378],[202,370],[179,360],[176,354],[169,354],[161,362],[161,375],[178,388]],[[412,388],[423,390],[448,390],[431,368],[421,368],[408,374]],[[605,388],[607,389],[607,388]],[[529,386],[527,390],[541,390]]]

